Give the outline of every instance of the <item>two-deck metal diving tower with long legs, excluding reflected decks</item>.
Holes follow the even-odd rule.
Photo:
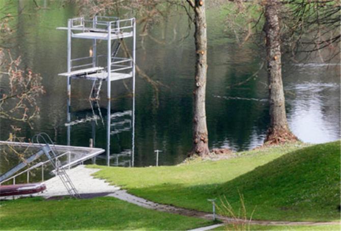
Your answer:
[[[67,30],[67,72],[59,74],[67,77],[68,109],[67,120],[70,122],[71,79],[86,79],[93,81],[90,100],[98,100],[102,82],[107,82],[107,164],[110,161],[110,98],[111,81],[132,78],[132,155],[134,153],[135,132],[135,18],[120,20],[117,17],[95,16],[92,20],[83,17],[68,20],[67,27],[58,27],[58,30]],[[72,58],[71,40],[91,39],[92,52],[87,57]],[[123,39],[132,38],[132,52],[130,57],[118,57],[118,51]],[[97,40],[106,40],[106,54],[98,54]],[[100,62],[106,57],[106,62]],[[102,66],[101,66],[102,64]],[[104,64],[104,65],[103,65]],[[106,66],[105,66],[106,65]],[[70,145],[70,126],[68,127],[68,145]],[[133,163],[132,163],[133,165]]]

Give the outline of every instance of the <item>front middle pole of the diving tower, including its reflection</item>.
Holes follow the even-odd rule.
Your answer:
[[[107,125],[106,125],[106,158],[107,165],[110,165],[110,107],[111,107],[111,81],[110,81],[110,72],[111,72],[111,22],[108,22],[108,47],[107,47],[107,100],[108,100],[108,109],[107,109]]]

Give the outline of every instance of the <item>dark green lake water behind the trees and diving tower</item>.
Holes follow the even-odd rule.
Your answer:
[[[13,14],[24,8],[35,13],[28,1],[3,1]],[[43,76],[46,94],[38,99],[40,117],[34,129],[0,120],[0,139],[9,136],[10,125],[21,127],[20,135],[27,138],[46,132],[60,145],[67,144],[67,88],[66,32],[55,30],[66,26],[67,19],[75,17],[74,6],[61,7],[61,3],[38,1],[46,4],[35,14],[23,14],[15,19],[15,35],[10,41],[13,51],[22,56],[23,67],[30,67]],[[4,4],[4,3],[3,3]],[[214,10],[212,10],[214,11]],[[239,47],[224,32],[221,22],[208,13],[208,82],[207,123],[210,148],[248,150],[262,145],[269,126],[266,72],[261,71],[251,81],[235,86],[259,69],[264,50],[252,45]],[[210,18],[211,17],[211,18]],[[191,148],[192,89],[194,76],[194,42],[186,35],[186,17],[175,16],[152,30],[152,36],[164,42],[146,38],[142,44],[137,33],[136,63],[154,80],[164,86],[159,88],[158,99],[149,83],[136,77],[135,155],[134,166],[155,165],[154,150],[162,150],[160,165],[174,165],[186,158]],[[140,30],[137,30],[138,32]],[[174,31],[177,33],[174,34]],[[88,56],[90,41],[73,40],[75,56]],[[100,44],[103,47],[105,44]],[[101,48],[100,48],[101,49]],[[131,80],[126,81],[131,85]],[[340,138],[340,66],[334,60],[330,65],[317,58],[297,64],[283,57],[283,83],[286,91],[289,126],[304,142],[322,143]],[[2,78],[0,85],[6,87]],[[92,116],[88,101],[92,83],[72,82],[71,119]],[[101,120],[71,126],[70,144],[89,146],[89,139],[96,135],[95,146],[106,147],[106,87],[99,102]],[[111,112],[129,110],[131,98],[122,81],[111,86]],[[157,103],[158,102],[158,103]],[[111,136],[111,153],[131,148],[131,132]],[[128,161],[129,162],[129,161]],[[99,160],[104,163],[104,160]],[[127,162],[124,163],[124,165]],[[115,164],[114,162],[111,163]]]

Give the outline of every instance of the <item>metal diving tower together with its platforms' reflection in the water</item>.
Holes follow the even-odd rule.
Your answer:
[[[106,84],[107,123],[106,123],[106,158],[109,165],[110,156],[110,135],[118,135],[122,132],[132,133],[132,156],[134,156],[134,131],[135,131],[135,49],[136,49],[136,20],[135,18],[120,19],[111,16],[95,16],[87,19],[84,17],[68,19],[67,26],[57,27],[57,30],[67,32],[67,70],[58,74],[67,79],[68,109],[67,123],[68,137],[70,143],[70,129],[72,125],[99,119],[91,118],[71,121],[71,80],[90,80],[93,82],[90,90],[89,100],[97,102],[100,100],[102,84]],[[89,56],[74,57],[72,47],[79,39],[90,40]],[[125,41],[124,51],[120,50],[121,44]],[[126,42],[127,41],[127,42]],[[83,43],[86,44],[86,43]],[[86,52],[78,52],[86,53]],[[111,114],[111,85],[118,83],[118,80],[131,79],[132,110]],[[104,84],[103,84],[104,85]],[[100,110],[99,110],[100,113]],[[120,118],[129,116],[127,118]],[[101,114],[100,114],[101,118]],[[133,165],[133,161],[132,161]]]

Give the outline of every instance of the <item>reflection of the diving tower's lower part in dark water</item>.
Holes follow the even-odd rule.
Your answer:
[[[102,111],[106,116],[102,116]],[[84,124],[91,127],[91,137],[89,144],[91,147],[96,147],[96,131],[100,128],[106,130],[106,153],[95,157],[94,164],[103,164],[106,162],[108,166],[134,166],[134,107],[132,110],[111,111],[111,101],[107,101],[106,108],[101,108],[99,101],[90,100],[89,108],[72,111],[71,100],[67,100],[67,145],[71,144],[71,128],[77,130],[77,126]],[[105,114],[105,113],[103,113]],[[120,135],[122,133],[130,133],[131,145],[121,146]],[[112,151],[113,150],[113,153]]]

